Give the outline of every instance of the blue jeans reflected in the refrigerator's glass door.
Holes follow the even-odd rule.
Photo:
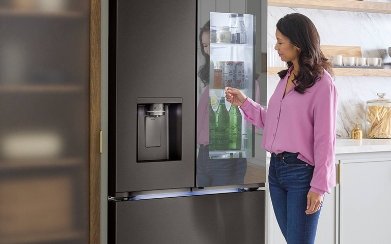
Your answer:
[[[230,186],[244,183],[245,158],[209,159],[209,145],[200,145],[197,158],[197,186]]]

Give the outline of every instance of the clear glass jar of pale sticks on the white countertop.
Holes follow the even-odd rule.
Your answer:
[[[385,99],[385,95],[378,93],[379,98],[367,101],[367,138],[391,138],[391,100]]]

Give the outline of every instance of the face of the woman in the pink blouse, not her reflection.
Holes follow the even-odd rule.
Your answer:
[[[274,49],[277,50],[278,56],[284,62],[296,62],[298,61],[300,51],[299,49],[291,43],[291,40],[284,36],[278,29],[275,31],[275,37],[277,43],[274,46]]]

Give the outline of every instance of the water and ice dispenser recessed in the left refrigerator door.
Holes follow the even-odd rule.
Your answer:
[[[182,98],[137,98],[137,162],[181,160]]]

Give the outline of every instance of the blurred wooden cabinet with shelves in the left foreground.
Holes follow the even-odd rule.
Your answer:
[[[0,3],[0,242],[100,242],[100,1]]]

